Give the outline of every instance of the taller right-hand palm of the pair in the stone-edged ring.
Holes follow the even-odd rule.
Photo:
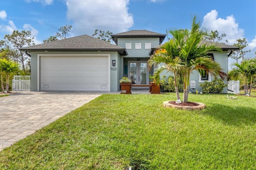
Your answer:
[[[192,28],[188,33],[180,32],[178,30],[169,31],[174,37],[174,41],[177,41],[179,45],[179,57],[186,68],[184,69],[185,73],[183,73],[183,103],[188,102],[189,80],[192,71],[196,70],[201,75],[207,73],[215,78],[220,76],[222,79],[225,79],[227,76],[220,65],[207,55],[208,51],[221,51],[220,47],[215,45],[215,43],[210,42],[200,44],[203,36],[208,32],[208,30],[200,27],[200,22],[197,22],[196,17],[194,17]]]

